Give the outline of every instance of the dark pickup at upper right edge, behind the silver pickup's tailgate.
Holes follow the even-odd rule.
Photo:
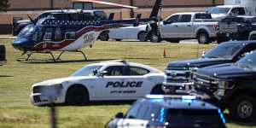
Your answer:
[[[248,40],[256,30],[256,17],[227,16],[218,22],[217,43],[229,40]]]

